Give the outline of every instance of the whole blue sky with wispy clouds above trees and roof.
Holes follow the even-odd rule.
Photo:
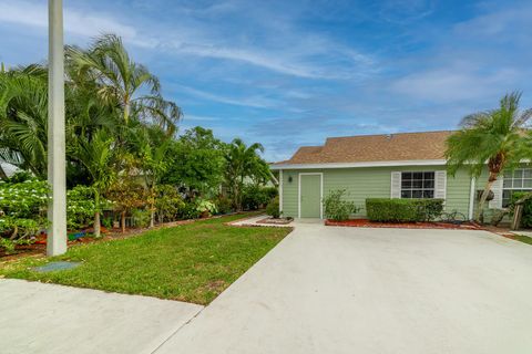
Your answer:
[[[327,136],[454,128],[523,92],[531,1],[63,0],[65,42],[123,37],[184,111],[224,140],[289,157]],[[47,1],[0,0],[0,61],[47,56]]]

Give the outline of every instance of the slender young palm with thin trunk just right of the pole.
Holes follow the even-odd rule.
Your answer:
[[[100,237],[101,197],[116,178],[113,159],[113,138],[104,129],[98,131],[91,140],[79,139],[72,152],[91,175],[94,189],[94,236]]]

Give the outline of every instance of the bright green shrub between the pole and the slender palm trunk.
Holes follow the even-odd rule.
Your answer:
[[[75,186],[66,192],[66,227],[79,230],[89,226],[94,218],[94,189]]]

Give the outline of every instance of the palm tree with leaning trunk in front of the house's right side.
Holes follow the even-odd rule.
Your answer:
[[[483,207],[493,183],[505,168],[513,168],[523,157],[525,129],[532,110],[521,112],[521,93],[507,94],[497,110],[466,116],[460,131],[447,139],[448,170],[454,175],[461,167],[479,177],[488,163],[489,177],[474,219],[481,221]]]

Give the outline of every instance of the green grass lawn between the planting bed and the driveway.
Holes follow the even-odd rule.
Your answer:
[[[0,263],[0,277],[207,304],[290,232],[288,228],[224,225],[243,217],[72,247],[52,259],[22,258]],[[49,273],[32,270],[58,260],[82,264]]]

